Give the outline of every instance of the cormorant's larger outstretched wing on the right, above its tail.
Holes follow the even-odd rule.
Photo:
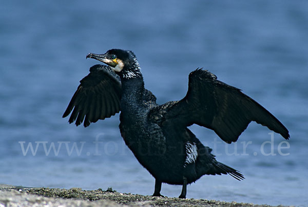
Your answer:
[[[154,108],[150,115],[160,124],[207,127],[227,143],[236,142],[252,121],[280,133],[285,139],[290,137],[281,122],[259,103],[202,68],[189,74],[188,92],[182,100]]]

